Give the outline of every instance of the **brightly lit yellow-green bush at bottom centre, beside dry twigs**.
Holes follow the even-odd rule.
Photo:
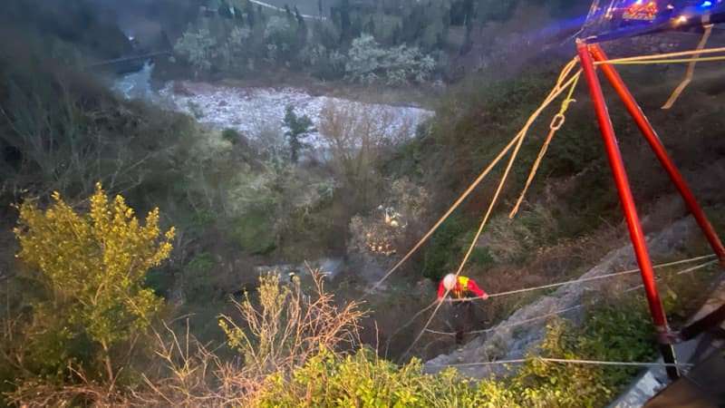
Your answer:
[[[367,349],[344,357],[323,349],[290,380],[270,376],[260,406],[472,407],[513,401],[497,384],[482,384],[461,380],[452,369],[423,374],[417,359],[399,366]]]

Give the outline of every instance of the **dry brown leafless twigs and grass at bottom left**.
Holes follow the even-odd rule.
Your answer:
[[[342,355],[360,345],[364,312],[355,302],[335,306],[324,277],[311,273],[309,287],[299,279],[285,285],[277,275],[260,277],[258,301],[247,295],[234,302],[237,315],[219,316],[235,358],[223,360],[189,328],[178,334],[163,324],[152,336],[154,358],[138,374],[140,384],[98,383],[69,366],[75,384],[18,384],[10,401],[24,407],[256,406],[272,376],[289,379],[322,350]]]

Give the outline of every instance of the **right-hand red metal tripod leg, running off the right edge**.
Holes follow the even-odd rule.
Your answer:
[[[594,61],[607,60],[606,54],[602,51],[599,44],[590,45],[589,51],[594,57]],[[640,131],[642,131],[644,139],[650,143],[650,147],[657,156],[657,159],[659,159],[660,163],[662,163],[662,167],[667,171],[667,174],[670,175],[670,179],[672,179],[675,187],[677,187],[680,191],[687,208],[690,209],[692,216],[700,225],[705,238],[707,238],[708,242],[710,242],[710,247],[718,258],[720,258],[720,264],[725,267],[725,248],[722,247],[722,242],[720,241],[720,237],[718,237],[718,233],[715,231],[715,228],[712,228],[712,225],[710,225],[710,221],[704,211],[702,211],[697,199],[695,199],[690,187],[687,185],[687,182],[682,178],[680,171],[677,170],[677,167],[675,167],[672,159],[670,159],[670,156],[664,149],[664,145],[662,145],[662,141],[660,141],[659,136],[657,136],[657,133],[652,128],[652,124],[647,120],[647,117],[644,116],[642,109],[634,100],[632,93],[629,92],[627,85],[624,84],[622,78],[619,76],[619,73],[617,73],[614,69],[614,66],[606,63],[600,64],[599,66],[602,69],[604,76],[606,76],[609,80],[609,83],[612,83],[614,91],[617,92],[619,97],[622,99],[624,106],[627,108],[627,111],[632,116],[634,122],[637,123],[637,127],[639,127]]]

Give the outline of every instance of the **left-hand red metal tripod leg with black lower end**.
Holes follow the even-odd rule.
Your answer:
[[[619,193],[619,199],[622,201],[624,217],[627,220],[630,238],[632,238],[634,255],[637,257],[637,263],[640,266],[640,274],[642,275],[644,292],[647,295],[647,301],[650,306],[652,321],[654,322],[654,326],[658,332],[667,333],[669,332],[667,318],[664,314],[664,308],[662,308],[662,301],[660,300],[660,295],[657,292],[657,287],[654,284],[652,261],[650,260],[649,253],[647,252],[642,225],[640,224],[640,219],[637,216],[637,209],[634,205],[632,190],[630,189],[627,174],[624,170],[622,154],[619,151],[616,136],[614,135],[614,127],[612,126],[609,112],[607,112],[606,102],[604,102],[602,85],[596,77],[596,72],[594,72],[594,62],[592,61],[592,55],[589,53],[589,49],[586,44],[580,41],[577,42],[576,50],[579,53],[579,60],[582,63],[582,71],[584,72],[586,83],[589,86],[589,92],[592,95],[596,120],[599,122],[600,131],[602,131],[604,148],[606,150],[607,157],[609,158],[609,164],[612,167],[612,172],[614,173],[614,182],[617,187],[617,192]],[[661,345],[661,351],[665,363],[675,362],[674,349],[672,348],[672,345]],[[672,379],[677,378],[679,376],[677,367],[668,366],[667,374]]]

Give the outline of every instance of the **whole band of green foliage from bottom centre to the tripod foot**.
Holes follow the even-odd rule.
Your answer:
[[[557,358],[648,361],[654,349],[652,326],[641,306],[592,309],[583,326],[555,321],[548,325],[541,354]],[[472,382],[449,368],[422,374],[420,361],[398,366],[369,350],[333,355],[327,350],[309,359],[290,379],[267,378],[262,406],[602,406],[619,392],[637,369],[553,364],[529,355],[527,363],[506,379]]]

